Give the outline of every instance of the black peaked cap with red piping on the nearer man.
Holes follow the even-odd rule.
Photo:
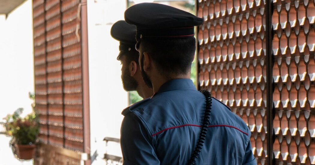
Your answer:
[[[139,3],[125,11],[125,21],[137,27],[137,41],[143,38],[186,38],[194,36],[194,26],[202,18],[158,3]]]

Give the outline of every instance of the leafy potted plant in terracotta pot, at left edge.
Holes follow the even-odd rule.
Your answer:
[[[39,129],[34,111],[24,118],[20,116],[22,112],[23,108],[19,108],[7,115],[6,131],[7,135],[12,136],[10,145],[13,153],[19,159],[29,160],[34,158]]]

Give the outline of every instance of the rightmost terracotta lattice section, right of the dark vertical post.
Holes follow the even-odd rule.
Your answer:
[[[277,162],[315,164],[314,5],[308,0],[272,4]]]

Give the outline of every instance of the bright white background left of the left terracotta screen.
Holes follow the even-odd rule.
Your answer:
[[[24,115],[31,112],[33,68],[32,6],[26,0],[7,19],[0,15],[0,121],[19,107]]]

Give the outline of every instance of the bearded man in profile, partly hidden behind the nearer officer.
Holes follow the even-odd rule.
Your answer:
[[[111,36],[119,41],[119,54],[117,60],[121,62],[121,79],[125,91],[137,91],[142,98],[152,96],[153,92],[143,81],[140,66],[139,52],[135,50],[136,27],[124,20],[112,25]]]

